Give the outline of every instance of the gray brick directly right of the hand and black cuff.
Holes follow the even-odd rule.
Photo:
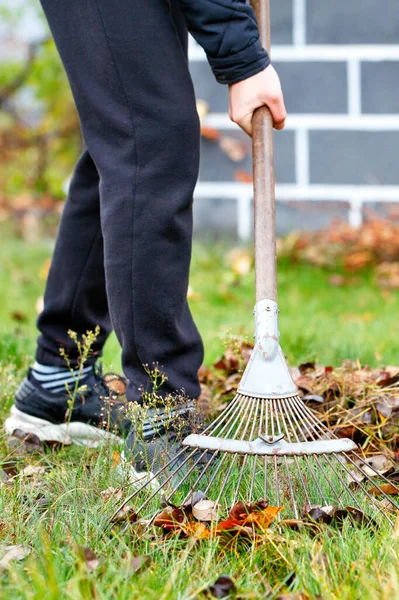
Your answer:
[[[345,113],[348,110],[345,62],[274,62],[288,112]]]

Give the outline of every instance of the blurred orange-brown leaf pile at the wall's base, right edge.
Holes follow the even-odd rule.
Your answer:
[[[333,222],[319,231],[291,233],[279,240],[278,253],[293,262],[347,272],[378,267],[376,282],[399,289],[399,222],[395,220],[372,218],[359,229]]]

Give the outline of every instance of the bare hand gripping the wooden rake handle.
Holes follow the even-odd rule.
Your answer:
[[[287,113],[280,79],[269,65],[256,75],[229,86],[229,117],[248,135],[252,135],[252,115],[259,106],[269,107],[275,129],[284,129]]]

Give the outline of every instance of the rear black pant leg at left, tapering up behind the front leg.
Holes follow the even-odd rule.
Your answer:
[[[111,331],[105,291],[104,250],[100,222],[99,176],[87,150],[80,157],[65,203],[38,319],[41,332],[36,359],[65,366],[60,348],[71,363],[78,360],[68,330],[82,335],[100,325],[93,344],[94,362]]]

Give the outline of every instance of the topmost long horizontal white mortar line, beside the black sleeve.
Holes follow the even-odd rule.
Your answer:
[[[357,59],[364,61],[399,60],[399,44],[345,44],[323,45],[307,44],[305,46],[289,46],[272,44],[273,61],[347,61]],[[190,44],[190,61],[205,61],[203,49],[193,42]]]

